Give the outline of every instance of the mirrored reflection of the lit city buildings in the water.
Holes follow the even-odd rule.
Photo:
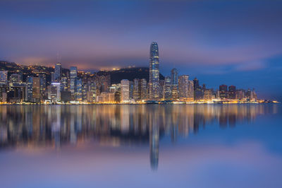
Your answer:
[[[8,105],[0,106],[0,149],[82,143],[148,144],[152,169],[159,163],[159,139],[176,142],[208,124],[235,127],[276,105]]]

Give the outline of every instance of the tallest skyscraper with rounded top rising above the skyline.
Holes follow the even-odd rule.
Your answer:
[[[159,47],[152,42],[149,56],[149,99],[159,99]]]

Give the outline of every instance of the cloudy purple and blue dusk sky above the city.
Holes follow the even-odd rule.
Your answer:
[[[282,1],[0,0],[0,59],[81,70],[149,66],[282,100]]]

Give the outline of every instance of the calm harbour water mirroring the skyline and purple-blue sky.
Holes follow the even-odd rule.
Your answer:
[[[282,187],[282,107],[1,105],[0,187]]]

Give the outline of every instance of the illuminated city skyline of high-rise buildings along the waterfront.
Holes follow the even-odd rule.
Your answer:
[[[152,42],[149,52],[149,81],[146,78],[121,79],[111,83],[111,75],[78,71],[76,66],[65,69],[61,63],[54,72],[32,70],[31,75],[18,71],[0,71],[0,102],[21,103],[145,103],[145,102],[257,102],[255,89],[238,89],[221,85],[218,89],[200,85],[197,78],[178,75],[173,68],[170,76],[160,79],[159,47]],[[51,75],[51,82],[47,76]]]

